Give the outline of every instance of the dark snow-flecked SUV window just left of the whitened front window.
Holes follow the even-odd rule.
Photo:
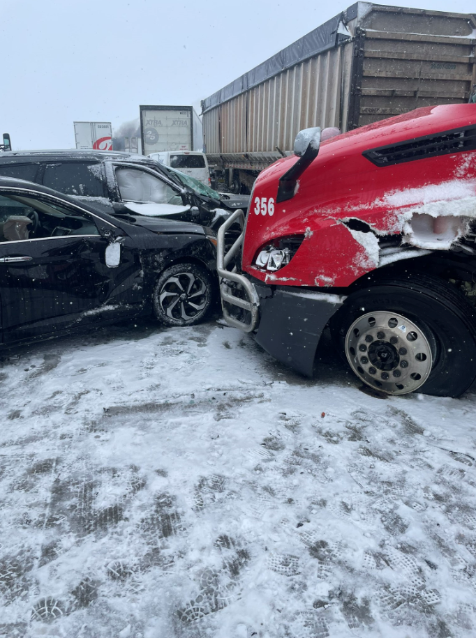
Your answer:
[[[103,176],[100,164],[64,162],[45,165],[43,185],[65,195],[79,197],[104,197]]]

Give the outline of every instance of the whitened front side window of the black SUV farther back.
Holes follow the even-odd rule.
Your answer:
[[[182,204],[177,191],[160,178],[140,169],[118,167],[116,179],[121,199],[125,201]]]

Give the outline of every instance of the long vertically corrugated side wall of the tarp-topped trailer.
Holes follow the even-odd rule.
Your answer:
[[[343,75],[349,82],[349,59],[352,43],[299,63],[205,112],[207,153],[276,151],[276,146],[285,151],[292,149],[303,128],[341,126]]]

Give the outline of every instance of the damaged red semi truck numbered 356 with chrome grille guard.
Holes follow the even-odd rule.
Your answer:
[[[476,378],[476,105],[320,136],[299,132],[246,220],[221,227],[226,321],[308,376],[329,325],[375,390],[461,395]]]

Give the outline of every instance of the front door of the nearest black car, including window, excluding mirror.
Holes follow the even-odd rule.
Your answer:
[[[111,267],[106,249],[119,235]],[[142,296],[140,257],[124,231],[59,197],[0,189],[3,342],[128,316]]]

